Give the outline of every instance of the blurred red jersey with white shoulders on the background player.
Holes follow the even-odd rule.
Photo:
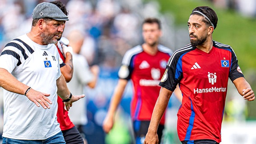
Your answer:
[[[123,56],[119,78],[131,79],[133,83],[133,99],[131,117],[133,121],[150,121],[155,102],[158,98],[161,76],[165,72],[171,49],[158,45],[155,55],[147,54],[141,45],[129,49]],[[160,124],[165,123],[165,117]]]

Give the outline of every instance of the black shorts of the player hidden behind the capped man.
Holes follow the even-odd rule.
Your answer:
[[[74,126],[69,130],[62,130],[66,144],[84,144],[82,136]]]

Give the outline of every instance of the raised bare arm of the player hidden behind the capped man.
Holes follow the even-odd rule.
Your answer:
[[[66,53],[66,60],[65,65],[63,67],[60,67],[60,72],[64,76],[65,80],[69,82],[72,79],[73,76],[73,59],[72,54],[67,52]]]

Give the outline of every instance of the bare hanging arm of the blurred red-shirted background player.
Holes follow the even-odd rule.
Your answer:
[[[111,98],[110,107],[108,113],[103,121],[103,130],[105,133],[109,133],[114,125],[114,114],[122,99],[123,91],[128,83],[126,79],[119,79],[118,84],[115,87],[114,94]]]

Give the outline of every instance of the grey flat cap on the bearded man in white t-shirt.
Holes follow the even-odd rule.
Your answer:
[[[57,21],[68,21],[69,18],[66,16],[58,6],[48,2],[42,2],[37,4],[32,13],[33,19],[38,18],[52,18]]]

